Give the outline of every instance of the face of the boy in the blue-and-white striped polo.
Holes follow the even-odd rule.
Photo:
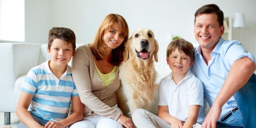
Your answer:
[[[47,51],[51,56],[50,65],[53,66],[67,66],[75,53],[71,43],[58,38],[53,40],[51,48],[47,48]]]

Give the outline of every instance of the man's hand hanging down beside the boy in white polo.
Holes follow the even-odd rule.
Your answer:
[[[212,105],[201,128],[216,128],[216,123],[220,117],[220,113],[221,113],[221,106]]]

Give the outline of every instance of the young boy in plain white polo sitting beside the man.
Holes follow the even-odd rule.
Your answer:
[[[160,81],[158,116],[137,109],[132,119],[138,128],[192,128],[203,123],[203,85],[189,70],[194,53],[193,45],[182,38],[168,45],[166,61],[172,72]]]

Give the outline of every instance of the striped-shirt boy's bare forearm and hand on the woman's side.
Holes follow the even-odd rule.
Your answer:
[[[73,113],[69,115],[66,119],[63,119],[58,122],[49,121],[45,124],[45,128],[48,127],[58,127],[58,128],[66,128],[71,124],[81,121],[83,119],[83,103],[80,101],[79,96],[72,97],[72,109]]]

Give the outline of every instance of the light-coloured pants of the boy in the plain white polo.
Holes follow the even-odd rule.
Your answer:
[[[171,124],[144,109],[135,110],[132,120],[137,128],[171,128]],[[196,124],[193,128],[201,128],[201,125]]]

